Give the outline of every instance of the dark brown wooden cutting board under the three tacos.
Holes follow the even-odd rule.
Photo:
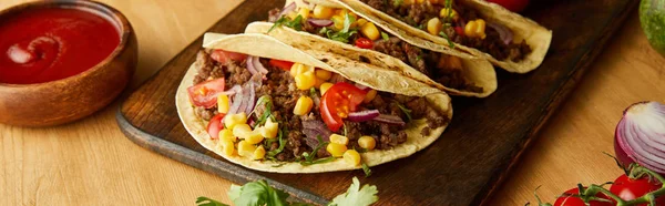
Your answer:
[[[325,204],[344,193],[351,177],[377,185],[377,205],[492,205],[490,194],[520,154],[603,51],[637,0],[532,1],[525,16],[554,31],[543,64],[528,74],[499,71],[499,90],[487,99],[453,97],[454,116],[428,148],[372,168],[323,174],[269,174],[224,161],[198,145],[181,124],[175,92],[201,48],[200,37],[124,101],[117,122],[140,146],[232,182],[268,179],[293,196]],[[238,33],[265,20],[279,1],[247,0],[208,31]]]

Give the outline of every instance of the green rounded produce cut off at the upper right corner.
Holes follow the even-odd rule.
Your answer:
[[[642,0],[640,22],[652,47],[665,55],[665,0]]]

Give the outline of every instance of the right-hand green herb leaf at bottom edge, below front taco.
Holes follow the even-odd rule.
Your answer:
[[[360,182],[357,177],[354,177],[354,183],[349,189],[345,194],[335,197],[328,206],[368,206],[379,200],[377,193],[379,193],[377,186],[362,185],[362,188],[360,188]]]

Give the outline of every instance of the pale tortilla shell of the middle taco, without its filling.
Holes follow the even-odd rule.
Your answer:
[[[444,49],[440,49],[440,47],[437,47],[439,50],[431,50],[431,51],[437,51],[437,52],[444,53],[444,54],[454,53],[454,54],[450,54],[450,55],[459,56],[462,60],[462,66],[466,70],[462,72],[464,74],[466,80],[474,83],[478,86],[481,86],[483,89],[482,93],[460,91],[457,89],[447,87],[438,82],[434,82],[427,75],[420,73],[418,70],[411,68],[409,64],[400,61],[399,59],[390,56],[390,55],[381,53],[381,52],[378,52],[378,51],[356,48],[350,44],[337,42],[335,40],[321,38],[321,37],[318,37],[318,35],[311,34],[311,33],[298,32],[298,31],[293,30],[287,27],[277,27],[277,28],[274,28],[270,32],[268,32],[268,30],[270,30],[270,28],[273,28],[273,25],[274,24],[269,23],[269,22],[253,22],[253,23],[249,23],[247,25],[247,28],[245,28],[245,33],[268,34],[282,42],[285,42],[286,44],[295,47],[296,49],[306,51],[309,54],[311,54],[309,51],[318,50],[318,51],[335,53],[338,55],[344,55],[345,58],[348,58],[352,61],[367,62],[372,65],[376,65],[377,68],[381,68],[383,70],[391,70],[391,71],[395,71],[396,73],[401,74],[402,76],[418,80],[420,82],[423,82],[427,85],[446,91],[447,93],[449,93],[451,95],[485,97],[485,96],[492,94],[494,91],[497,91],[497,84],[498,84],[497,83],[497,73],[494,72],[494,68],[492,66],[492,64],[484,59],[473,58],[468,54],[461,53],[459,51],[444,50]],[[400,34],[405,34],[405,33],[395,33],[388,29],[386,29],[386,30],[388,32],[392,33],[393,35],[402,39],[407,43],[410,43],[416,47],[424,48],[420,43],[411,43],[411,42],[418,42],[418,41],[413,41],[415,38],[409,37],[408,34],[407,34],[407,37],[409,37],[409,38],[402,38],[402,35],[400,35]],[[406,40],[406,39],[409,39],[409,40]],[[428,41],[421,40],[420,42],[428,42]],[[430,43],[430,44],[433,44],[433,43]],[[428,48],[428,50],[430,50],[430,49]],[[362,73],[362,71],[355,71],[355,72]]]

